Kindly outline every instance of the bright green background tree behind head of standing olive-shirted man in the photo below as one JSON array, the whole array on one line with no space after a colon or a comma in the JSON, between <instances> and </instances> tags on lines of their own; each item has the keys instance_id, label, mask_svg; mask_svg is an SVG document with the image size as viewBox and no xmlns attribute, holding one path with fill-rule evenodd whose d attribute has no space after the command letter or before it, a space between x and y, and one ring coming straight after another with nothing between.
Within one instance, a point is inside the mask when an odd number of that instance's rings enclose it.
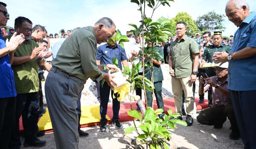
<instances>
[{"instance_id":1,"label":"bright green background tree behind head of standing olive-shirted man","mask_svg":"<svg viewBox=\"0 0 256 149\"><path fill-rule=\"evenodd\" d=\"M192 17L186 12L179 12L176 17L171 20L175 26L177 22L184 21L186 23L186 28L188 29L186 32L187 35L195 35L198 32L198 27L195 25Z\"/></svg>"}]
</instances>

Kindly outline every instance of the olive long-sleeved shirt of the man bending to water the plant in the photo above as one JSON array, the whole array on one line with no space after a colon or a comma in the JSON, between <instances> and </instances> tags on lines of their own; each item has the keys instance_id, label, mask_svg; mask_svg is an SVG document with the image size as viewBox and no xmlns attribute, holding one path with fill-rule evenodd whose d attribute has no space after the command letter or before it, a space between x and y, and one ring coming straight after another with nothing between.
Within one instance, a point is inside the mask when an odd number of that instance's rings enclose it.
<instances>
[{"instance_id":1,"label":"olive long-sleeved shirt of the man bending to water the plant","mask_svg":"<svg viewBox=\"0 0 256 149\"><path fill-rule=\"evenodd\" d=\"M61 45L52 66L82 80L99 82L103 73L96 64L97 41L92 26L76 30Z\"/></svg>"}]
</instances>

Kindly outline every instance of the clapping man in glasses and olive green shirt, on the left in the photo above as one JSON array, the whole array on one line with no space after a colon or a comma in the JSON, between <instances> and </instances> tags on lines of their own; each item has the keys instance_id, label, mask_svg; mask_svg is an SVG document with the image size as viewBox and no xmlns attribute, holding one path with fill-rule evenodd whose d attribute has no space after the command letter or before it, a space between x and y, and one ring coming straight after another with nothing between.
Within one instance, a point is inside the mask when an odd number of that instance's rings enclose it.
<instances>
[{"instance_id":1,"label":"clapping man in glasses and olive green shirt, on the left","mask_svg":"<svg viewBox=\"0 0 256 149\"><path fill-rule=\"evenodd\" d=\"M28 18L17 17L15 19L15 31L17 34L24 34L25 41L14 53L12 63L17 100L15 127L12 130L9 149L19 149L21 146L19 127L21 115L25 136L24 146L41 147L46 144L46 141L36 138L39 118L38 65L44 65L46 53L42 47L38 47L35 41L29 39L33 29L32 22ZM7 36L7 38L10 37Z\"/></svg>"}]
</instances>

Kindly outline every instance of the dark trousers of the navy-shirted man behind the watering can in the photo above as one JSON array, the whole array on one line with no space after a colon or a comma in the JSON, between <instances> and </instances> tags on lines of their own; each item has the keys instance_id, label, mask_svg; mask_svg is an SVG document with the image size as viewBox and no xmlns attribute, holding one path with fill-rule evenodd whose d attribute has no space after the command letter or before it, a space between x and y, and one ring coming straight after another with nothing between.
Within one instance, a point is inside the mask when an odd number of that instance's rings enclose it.
<instances>
[{"instance_id":1,"label":"dark trousers of the navy-shirted man behind the watering can","mask_svg":"<svg viewBox=\"0 0 256 149\"><path fill-rule=\"evenodd\" d=\"M102 81L99 82L100 84L102 83ZM108 100L109 100L109 92L111 90L111 87L108 86L107 82L104 82L103 84L103 88L100 86L100 116L101 122L106 123L108 121L108 119L106 118L107 115L107 110L108 110ZM112 117L112 121L116 121L119 120L119 109L120 109L120 102L117 100L116 98L117 93L115 94L115 98L113 98L113 91L111 90L111 97L113 100L113 117Z\"/></svg>"}]
</instances>

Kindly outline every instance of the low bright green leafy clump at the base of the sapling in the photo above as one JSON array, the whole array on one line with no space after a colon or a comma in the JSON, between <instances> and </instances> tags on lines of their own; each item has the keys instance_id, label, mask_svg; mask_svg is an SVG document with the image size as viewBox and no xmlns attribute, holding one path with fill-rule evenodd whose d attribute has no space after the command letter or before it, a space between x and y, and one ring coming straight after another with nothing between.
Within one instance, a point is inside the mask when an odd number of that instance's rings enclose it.
<instances>
[{"instance_id":1,"label":"low bright green leafy clump at the base of the sapling","mask_svg":"<svg viewBox=\"0 0 256 149\"><path fill-rule=\"evenodd\" d=\"M164 149L169 149L169 146L166 144L167 140L171 140L171 132L168 130L168 127L171 129L175 129L176 124L180 124L186 126L186 122L179 120L179 119L170 119L171 117L176 117L177 114L172 114L172 110L168 110L168 115L165 115L165 120L157 118L158 114L161 114L163 109L157 109L154 111L151 107L145 112L144 118L142 117L141 113L137 112L136 110L128 111L128 115L131 117L135 117L140 120L140 126L137 127L128 127L124 129L125 135L133 132L136 129L141 129L143 134L137 136L137 145L148 143L150 144L151 149L160 149L160 144L163 145ZM150 141L145 141L145 139L149 138ZM141 142L143 140L143 142Z\"/></svg>"}]
</instances>

